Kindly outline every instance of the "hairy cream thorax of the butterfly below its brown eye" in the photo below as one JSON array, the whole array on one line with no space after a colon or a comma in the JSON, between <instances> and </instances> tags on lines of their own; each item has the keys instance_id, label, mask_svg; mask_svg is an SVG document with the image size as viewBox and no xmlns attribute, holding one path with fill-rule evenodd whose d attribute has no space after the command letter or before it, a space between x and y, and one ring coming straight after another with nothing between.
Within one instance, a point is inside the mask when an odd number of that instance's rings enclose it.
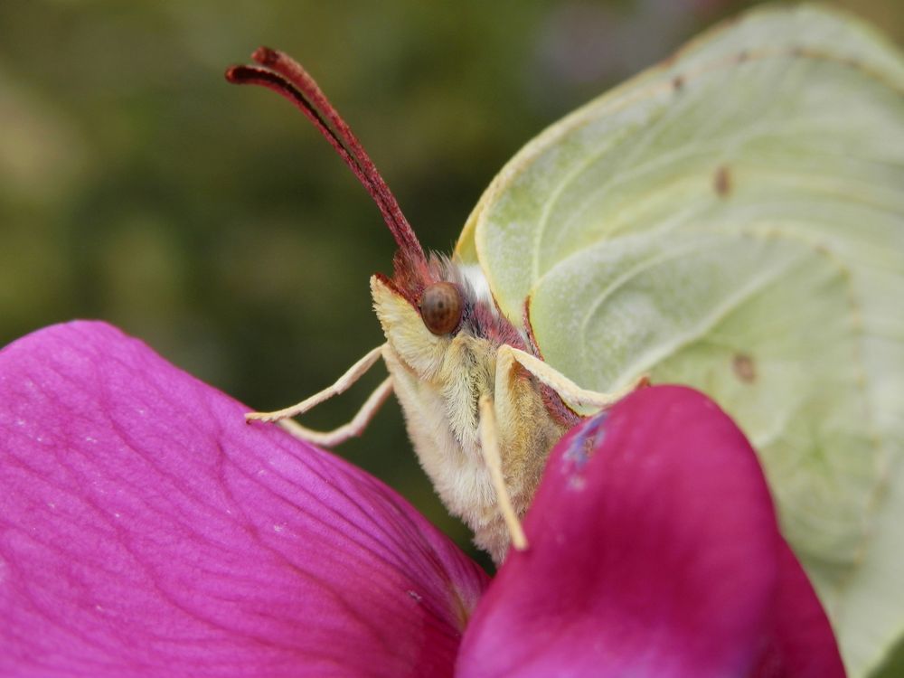
<instances>
[{"instance_id":1,"label":"hairy cream thorax of the butterfly below its brown eye","mask_svg":"<svg viewBox=\"0 0 904 678\"><path fill-rule=\"evenodd\" d=\"M459 335L432 379L424 379L388 345L384 358L405 414L420 465L450 513L475 533L476 545L500 562L509 535L480 449L477 403L494 397L505 485L519 514L526 512L549 450L564 432L546 410L539 384L516 368L495 398L497 347Z\"/></svg>"}]
</instances>

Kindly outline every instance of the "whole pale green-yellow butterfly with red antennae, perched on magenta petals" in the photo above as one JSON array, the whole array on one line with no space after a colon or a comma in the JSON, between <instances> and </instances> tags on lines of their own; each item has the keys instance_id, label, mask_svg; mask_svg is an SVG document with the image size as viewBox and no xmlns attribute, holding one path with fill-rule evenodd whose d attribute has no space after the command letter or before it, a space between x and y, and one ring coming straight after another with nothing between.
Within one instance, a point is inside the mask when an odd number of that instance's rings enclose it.
<instances>
[{"instance_id":1,"label":"whole pale green-yellow butterfly with red antennae, perched on magenta petals","mask_svg":"<svg viewBox=\"0 0 904 678\"><path fill-rule=\"evenodd\" d=\"M761 8L571 113L504 166L454 253L425 253L363 147L285 54L232 82L300 108L396 240L386 343L278 412L332 446L395 393L421 466L497 562L552 445L645 381L707 392L758 449L849 666L904 626L904 59L814 6ZM344 427L287 421L373 364ZM897 462L897 463L896 463ZM739 535L742 538L742 535Z\"/></svg>"}]
</instances>

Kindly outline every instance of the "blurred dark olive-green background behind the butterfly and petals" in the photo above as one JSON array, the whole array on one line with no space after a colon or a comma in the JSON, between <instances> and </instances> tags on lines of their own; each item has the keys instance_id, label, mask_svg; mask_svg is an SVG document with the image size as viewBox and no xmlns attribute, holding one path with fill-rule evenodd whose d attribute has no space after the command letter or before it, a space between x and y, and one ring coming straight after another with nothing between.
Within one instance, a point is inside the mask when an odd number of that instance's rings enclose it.
<instances>
[{"instance_id":1,"label":"blurred dark olive-green background behind the butterfly and petals","mask_svg":"<svg viewBox=\"0 0 904 678\"><path fill-rule=\"evenodd\" d=\"M367 281L392 240L306 120L226 66L259 44L304 63L445 251L543 127L749 5L0 3L0 345L102 318L254 408L300 400L381 343ZM904 42L899 0L841 5ZM344 422L384 374L306 424ZM337 452L468 547L394 400Z\"/></svg>"}]
</instances>

